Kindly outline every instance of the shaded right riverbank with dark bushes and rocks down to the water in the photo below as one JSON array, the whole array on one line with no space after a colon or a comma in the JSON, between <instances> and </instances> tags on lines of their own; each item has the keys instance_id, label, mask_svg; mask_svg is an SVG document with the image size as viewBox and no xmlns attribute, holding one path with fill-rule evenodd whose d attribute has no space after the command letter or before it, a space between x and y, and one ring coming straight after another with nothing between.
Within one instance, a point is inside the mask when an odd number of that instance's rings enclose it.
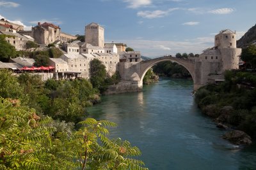
<instances>
[{"instance_id":1,"label":"shaded right riverbank with dark bushes and rocks down to the water","mask_svg":"<svg viewBox=\"0 0 256 170\"><path fill-rule=\"evenodd\" d=\"M195 101L218 128L228 130L223 138L235 145L250 145L256 138L256 90L241 86L239 73L232 74L223 83L198 89Z\"/></svg>"}]
</instances>

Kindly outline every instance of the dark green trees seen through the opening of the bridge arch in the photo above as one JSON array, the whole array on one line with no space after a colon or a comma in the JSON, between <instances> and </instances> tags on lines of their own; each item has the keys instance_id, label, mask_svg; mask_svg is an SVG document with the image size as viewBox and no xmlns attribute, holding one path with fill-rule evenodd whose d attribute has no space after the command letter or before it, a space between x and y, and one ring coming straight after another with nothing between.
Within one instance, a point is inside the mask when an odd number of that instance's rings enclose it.
<instances>
[{"instance_id":1,"label":"dark green trees seen through the opening of the bridge arch","mask_svg":"<svg viewBox=\"0 0 256 170\"><path fill-rule=\"evenodd\" d=\"M177 64L176 62L163 61L157 63L153 66L154 73L159 76L170 76L170 77L180 77L187 78L190 77L188 70Z\"/></svg>"}]
</instances>

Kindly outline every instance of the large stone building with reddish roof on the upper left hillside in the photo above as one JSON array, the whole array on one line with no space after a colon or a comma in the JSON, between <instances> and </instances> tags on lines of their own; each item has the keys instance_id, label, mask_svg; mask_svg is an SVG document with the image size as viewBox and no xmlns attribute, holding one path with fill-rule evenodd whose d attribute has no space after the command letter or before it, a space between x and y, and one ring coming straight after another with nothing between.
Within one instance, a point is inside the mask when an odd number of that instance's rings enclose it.
<instances>
[{"instance_id":1,"label":"large stone building with reddish roof on the upper left hillside","mask_svg":"<svg viewBox=\"0 0 256 170\"><path fill-rule=\"evenodd\" d=\"M32 27L33 38L41 46L60 41L60 27L51 23L44 22Z\"/></svg>"}]
</instances>

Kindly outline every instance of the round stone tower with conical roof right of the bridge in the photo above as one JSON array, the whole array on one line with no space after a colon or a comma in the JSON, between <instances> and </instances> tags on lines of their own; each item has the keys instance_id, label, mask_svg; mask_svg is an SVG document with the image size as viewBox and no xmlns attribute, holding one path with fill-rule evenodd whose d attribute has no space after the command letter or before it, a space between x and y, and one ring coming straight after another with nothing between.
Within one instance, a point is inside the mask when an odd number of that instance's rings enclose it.
<instances>
[{"instance_id":1,"label":"round stone tower with conical roof right of the bridge","mask_svg":"<svg viewBox=\"0 0 256 170\"><path fill-rule=\"evenodd\" d=\"M220 49L222 70L238 69L241 48L236 48L236 32L226 29L215 36L215 46Z\"/></svg>"}]
</instances>

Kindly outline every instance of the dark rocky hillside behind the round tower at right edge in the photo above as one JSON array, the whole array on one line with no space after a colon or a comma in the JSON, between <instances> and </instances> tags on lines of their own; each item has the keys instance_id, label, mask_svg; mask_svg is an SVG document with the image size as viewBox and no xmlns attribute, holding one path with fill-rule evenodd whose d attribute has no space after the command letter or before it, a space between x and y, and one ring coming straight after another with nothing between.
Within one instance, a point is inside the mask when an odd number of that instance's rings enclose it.
<instances>
[{"instance_id":1,"label":"dark rocky hillside behind the round tower at right edge","mask_svg":"<svg viewBox=\"0 0 256 170\"><path fill-rule=\"evenodd\" d=\"M245 48L252 43L256 43L256 24L250 28L242 38L237 40L237 48Z\"/></svg>"}]
</instances>

